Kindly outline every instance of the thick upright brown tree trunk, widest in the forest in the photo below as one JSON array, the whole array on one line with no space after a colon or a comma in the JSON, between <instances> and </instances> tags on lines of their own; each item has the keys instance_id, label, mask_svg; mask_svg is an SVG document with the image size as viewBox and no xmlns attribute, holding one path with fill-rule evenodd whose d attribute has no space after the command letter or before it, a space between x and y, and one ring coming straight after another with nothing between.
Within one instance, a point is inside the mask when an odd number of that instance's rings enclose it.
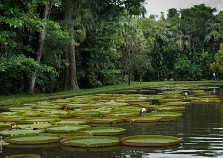
<instances>
[{"instance_id":1,"label":"thick upright brown tree trunk, widest in the forest","mask_svg":"<svg viewBox=\"0 0 223 158\"><path fill-rule=\"evenodd\" d=\"M75 45L74 45L74 25L71 22L73 20L72 9L68 8L64 13L64 20L68 22L66 29L70 35L70 42L65 50L65 60L69 62L69 66L66 67L64 72L64 89L75 90L79 89L76 75L76 58L75 58Z\"/></svg>"}]
</instances>

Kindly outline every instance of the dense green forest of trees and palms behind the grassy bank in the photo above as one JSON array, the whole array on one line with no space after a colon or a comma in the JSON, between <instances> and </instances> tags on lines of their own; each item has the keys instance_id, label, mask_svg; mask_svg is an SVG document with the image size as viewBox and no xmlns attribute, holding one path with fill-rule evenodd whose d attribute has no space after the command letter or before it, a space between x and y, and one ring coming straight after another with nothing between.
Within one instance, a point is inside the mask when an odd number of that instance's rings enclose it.
<instances>
[{"instance_id":1,"label":"dense green forest of trees and palms behind the grassy bank","mask_svg":"<svg viewBox=\"0 0 223 158\"><path fill-rule=\"evenodd\" d=\"M201 4L156 20L144 1L1 1L0 94L222 75L223 12Z\"/></svg>"}]
</instances>

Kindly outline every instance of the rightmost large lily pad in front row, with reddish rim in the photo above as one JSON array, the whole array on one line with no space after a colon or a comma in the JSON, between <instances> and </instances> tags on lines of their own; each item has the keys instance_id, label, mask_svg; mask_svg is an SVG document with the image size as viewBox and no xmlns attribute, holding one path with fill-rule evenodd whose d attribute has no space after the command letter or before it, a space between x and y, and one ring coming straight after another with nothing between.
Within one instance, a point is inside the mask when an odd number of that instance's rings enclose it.
<instances>
[{"instance_id":1,"label":"rightmost large lily pad in front row, with reddish rim","mask_svg":"<svg viewBox=\"0 0 223 158\"><path fill-rule=\"evenodd\" d=\"M171 146L180 144L180 139L162 135L135 135L123 138L122 144L129 146Z\"/></svg>"}]
</instances>

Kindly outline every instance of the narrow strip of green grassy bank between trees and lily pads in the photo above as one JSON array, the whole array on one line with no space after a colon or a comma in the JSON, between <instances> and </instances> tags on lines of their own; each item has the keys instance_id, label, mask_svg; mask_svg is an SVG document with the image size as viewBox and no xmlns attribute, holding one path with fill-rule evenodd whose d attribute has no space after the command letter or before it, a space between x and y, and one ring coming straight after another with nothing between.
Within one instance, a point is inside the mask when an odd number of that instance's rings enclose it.
<instances>
[{"instance_id":1,"label":"narrow strip of green grassy bank between trees and lily pads","mask_svg":"<svg viewBox=\"0 0 223 158\"><path fill-rule=\"evenodd\" d=\"M112 86L103 86L98 88L90 88L90 89L78 89L74 91L63 91L58 93L50 93L50 94L33 94L33 95L13 95L13 96L1 96L0 97L0 106L5 105L21 105L24 103L35 102L35 101L43 101L48 99L57 99L57 98L66 98L72 97L75 95L85 95L85 94L92 94L92 93L102 93L114 90L122 90L122 89L130 89L130 88L139 88L139 87L151 87L151 86L159 86L159 85L167 85L167 84L187 84L187 83L216 83L222 85L222 81L191 81L191 82L132 82L129 86L127 83L122 83L118 85Z\"/></svg>"}]
</instances>

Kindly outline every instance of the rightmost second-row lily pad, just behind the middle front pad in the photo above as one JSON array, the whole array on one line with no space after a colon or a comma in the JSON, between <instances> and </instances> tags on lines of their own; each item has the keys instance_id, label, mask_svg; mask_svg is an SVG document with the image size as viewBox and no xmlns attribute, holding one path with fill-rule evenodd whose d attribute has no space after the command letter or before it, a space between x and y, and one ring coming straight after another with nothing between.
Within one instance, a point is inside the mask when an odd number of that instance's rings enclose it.
<instances>
[{"instance_id":1,"label":"rightmost second-row lily pad, just behind the middle front pad","mask_svg":"<svg viewBox=\"0 0 223 158\"><path fill-rule=\"evenodd\" d=\"M118 127L91 127L87 129L80 129L78 132L90 133L95 136L119 135L124 134L124 128Z\"/></svg>"}]
</instances>

